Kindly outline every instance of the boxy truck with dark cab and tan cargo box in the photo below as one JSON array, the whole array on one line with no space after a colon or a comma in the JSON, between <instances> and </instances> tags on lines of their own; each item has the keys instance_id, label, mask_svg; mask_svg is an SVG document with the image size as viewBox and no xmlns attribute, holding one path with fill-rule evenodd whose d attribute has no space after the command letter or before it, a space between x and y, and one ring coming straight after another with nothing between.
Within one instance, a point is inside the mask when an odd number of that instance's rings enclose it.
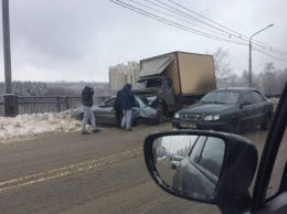
<instances>
[{"instance_id":1,"label":"boxy truck with dark cab and tan cargo box","mask_svg":"<svg viewBox=\"0 0 287 214\"><path fill-rule=\"evenodd\" d=\"M172 52L140 61L138 96L157 96L164 116L216 88L212 55Z\"/></svg>"}]
</instances>

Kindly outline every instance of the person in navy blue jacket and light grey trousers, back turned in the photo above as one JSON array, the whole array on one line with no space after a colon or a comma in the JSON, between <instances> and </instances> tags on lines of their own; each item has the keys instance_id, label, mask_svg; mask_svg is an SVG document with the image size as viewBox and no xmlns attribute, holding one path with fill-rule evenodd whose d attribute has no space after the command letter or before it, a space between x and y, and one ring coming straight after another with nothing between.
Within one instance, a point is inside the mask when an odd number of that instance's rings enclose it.
<instances>
[{"instance_id":1,"label":"person in navy blue jacket and light grey trousers, back turned","mask_svg":"<svg viewBox=\"0 0 287 214\"><path fill-rule=\"evenodd\" d=\"M123 121L121 121L121 129L131 131L130 128L130 120L131 120L131 111L132 111L132 105L135 103L135 95L131 92L131 85L126 84L120 93L120 99L121 99L121 108L123 108Z\"/></svg>"}]
</instances>

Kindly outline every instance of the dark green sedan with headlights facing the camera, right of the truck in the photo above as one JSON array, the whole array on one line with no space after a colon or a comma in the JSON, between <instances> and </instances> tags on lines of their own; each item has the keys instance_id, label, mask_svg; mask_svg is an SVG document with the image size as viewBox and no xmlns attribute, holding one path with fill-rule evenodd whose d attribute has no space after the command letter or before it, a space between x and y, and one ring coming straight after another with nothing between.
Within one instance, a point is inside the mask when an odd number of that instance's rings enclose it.
<instances>
[{"instance_id":1,"label":"dark green sedan with headlights facing the camera, right of the truck","mask_svg":"<svg viewBox=\"0 0 287 214\"><path fill-rule=\"evenodd\" d=\"M254 126L270 127L273 101L248 87L215 89L198 104L182 108L173 116L176 129L203 129L238 132Z\"/></svg>"}]
</instances>

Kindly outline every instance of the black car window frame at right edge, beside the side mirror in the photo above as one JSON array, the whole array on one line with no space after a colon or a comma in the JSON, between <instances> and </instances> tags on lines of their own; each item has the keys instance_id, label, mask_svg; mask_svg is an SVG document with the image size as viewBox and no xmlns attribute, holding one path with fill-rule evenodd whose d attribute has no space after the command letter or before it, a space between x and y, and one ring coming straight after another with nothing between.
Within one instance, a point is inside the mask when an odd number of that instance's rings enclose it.
<instances>
[{"instance_id":1,"label":"black car window frame at right edge, beside the side mirror","mask_svg":"<svg viewBox=\"0 0 287 214\"><path fill-rule=\"evenodd\" d=\"M269 199L266 199L267 189L269 185L269 180L273 172L273 167L277 158L278 149L280 147L285 130L287 118L287 83L285 84L281 97L279 99L277 109L274 115L274 119L266 138L266 142L263 149L263 154L261 158L259 167L256 174L255 186L253 190L251 211L255 212L259 210L267 202L276 199L286 190L287 181L286 173L287 168L283 173L283 180L280 182L279 191ZM283 188L284 186L284 188Z\"/></svg>"}]
</instances>

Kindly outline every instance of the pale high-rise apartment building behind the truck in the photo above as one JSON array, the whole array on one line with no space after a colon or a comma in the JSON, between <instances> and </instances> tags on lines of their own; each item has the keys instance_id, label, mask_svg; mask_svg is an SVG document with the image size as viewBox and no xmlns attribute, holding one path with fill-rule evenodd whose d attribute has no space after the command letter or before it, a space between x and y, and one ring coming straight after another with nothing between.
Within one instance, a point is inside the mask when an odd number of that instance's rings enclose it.
<instances>
[{"instance_id":1,"label":"pale high-rise apartment building behind the truck","mask_svg":"<svg viewBox=\"0 0 287 214\"><path fill-rule=\"evenodd\" d=\"M128 62L127 65L118 64L109 67L109 87L120 89L126 84L131 84L132 88L137 86L139 75L139 63Z\"/></svg>"}]
</instances>

